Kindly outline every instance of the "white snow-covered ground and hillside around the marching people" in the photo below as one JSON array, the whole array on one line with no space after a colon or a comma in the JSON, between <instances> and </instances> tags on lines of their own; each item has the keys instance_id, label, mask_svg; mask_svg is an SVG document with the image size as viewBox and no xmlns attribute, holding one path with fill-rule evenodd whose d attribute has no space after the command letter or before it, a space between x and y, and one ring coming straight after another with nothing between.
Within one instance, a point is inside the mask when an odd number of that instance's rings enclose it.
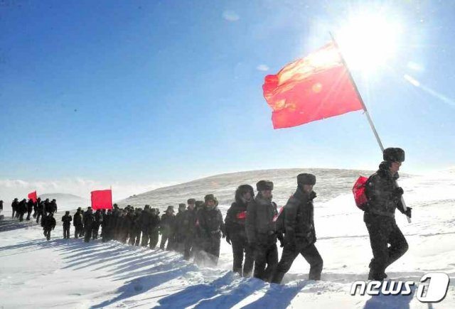
<instances>
[{"instance_id":1,"label":"white snow-covered ground and hillside around the marching people","mask_svg":"<svg viewBox=\"0 0 455 309\"><path fill-rule=\"evenodd\" d=\"M233 183L245 180L254 184L269 178L277 185L274 196L282 205L294 190L296 172L220 175L216 181L205 178L134 199L139 205L145 197L154 195L155 200L161 199L160 206L175 205L187 197L203 196L202 187L210 187L208 181L212 183L210 192L220 196L220 209L225 213L228 196L233 196ZM316 172L321 175L319 179L325 180L315 187L319 193L315 203L316 246L324 259L322 281L306 280L309 267L301 256L284 277L284 285L241 278L230 271L232 251L224 241L217 269L199 268L179 254L159 249L65 240L60 225L47 242L41 227L9 221L7 204L6 221L0 226L0 308L455 308L454 170L425 177L407 176L400 181L407 204L414 208L412 224L397 213L397 223L410 250L387 269L387 274L392 279L418 282L430 271L448 273L451 283L447 296L433 304L420 303L414 293L350 296L351 283L365 280L371 258L363 214L346 190L359 172ZM131 200L124 203L134 205ZM59 210L57 219L61 215Z\"/></svg>"}]
</instances>

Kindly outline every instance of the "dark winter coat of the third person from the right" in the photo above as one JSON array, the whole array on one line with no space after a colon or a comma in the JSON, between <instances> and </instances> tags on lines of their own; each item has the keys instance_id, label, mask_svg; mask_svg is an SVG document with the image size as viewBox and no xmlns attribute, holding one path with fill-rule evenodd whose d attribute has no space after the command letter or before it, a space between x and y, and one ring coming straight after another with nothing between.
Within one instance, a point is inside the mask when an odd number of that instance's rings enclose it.
<instances>
[{"instance_id":1,"label":"dark winter coat of the third person from the right","mask_svg":"<svg viewBox=\"0 0 455 309\"><path fill-rule=\"evenodd\" d=\"M250 244L277 242L276 224L273 220L277 214L277 204L257 193L247 206L245 227Z\"/></svg>"}]
</instances>

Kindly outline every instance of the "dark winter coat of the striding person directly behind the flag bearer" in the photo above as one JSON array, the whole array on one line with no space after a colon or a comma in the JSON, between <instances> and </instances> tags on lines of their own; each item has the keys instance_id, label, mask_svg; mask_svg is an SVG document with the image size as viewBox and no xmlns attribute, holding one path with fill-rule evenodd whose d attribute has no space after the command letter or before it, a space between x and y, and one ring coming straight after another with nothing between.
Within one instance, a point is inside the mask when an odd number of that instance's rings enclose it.
<instances>
[{"instance_id":1,"label":"dark winter coat of the striding person directly behind the flag bearer","mask_svg":"<svg viewBox=\"0 0 455 309\"><path fill-rule=\"evenodd\" d=\"M287 244L309 246L316 242L314 205L316 193L306 193L297 188L284 206L284 240Z\"/></svg>"}]
</instances>

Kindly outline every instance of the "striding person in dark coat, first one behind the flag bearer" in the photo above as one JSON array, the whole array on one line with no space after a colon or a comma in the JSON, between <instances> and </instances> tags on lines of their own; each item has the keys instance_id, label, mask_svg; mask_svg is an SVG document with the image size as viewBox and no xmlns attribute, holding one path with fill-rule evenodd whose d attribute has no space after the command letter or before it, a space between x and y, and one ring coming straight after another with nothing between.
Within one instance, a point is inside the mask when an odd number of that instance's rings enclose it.
<instances>
[{"instance_id":1,"label":"striding person in dark coat, first one behind the flag bearer","mask_svg":"<svg viewBox=\"0 0 455 309\"><path fill-rule=\"evenodd\" d=\"M272 283L282 282L284 274L291 269L294 259L299 254L310 264L309 280L321 280L323 260L314 245L315 184L315 175L307 173L297 175L296 192L289 198L281 214L284 215L284 248Z\"/></svg>"}]
</instances>

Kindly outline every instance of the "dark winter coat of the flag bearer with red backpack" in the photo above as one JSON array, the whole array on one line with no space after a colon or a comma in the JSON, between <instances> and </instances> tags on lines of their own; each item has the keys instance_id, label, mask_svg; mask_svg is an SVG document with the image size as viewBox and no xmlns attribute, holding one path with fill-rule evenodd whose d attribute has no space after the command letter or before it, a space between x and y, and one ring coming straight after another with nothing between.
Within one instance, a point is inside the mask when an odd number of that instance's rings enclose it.
<instances>
[{"instance_id":1,"label":"dark winter coat of the flag bearer with red backpack","mask_svg":"<svg viewBox=\"0 0 455 309\"><path fill-rule=\"evenodd\" d=\"M399 177L398 173L390 173L389 163L380 164L379 170L368 178L365 185L365 195L368 197L365 212L387 217L395 217L396 208L404 212L401 195L396 193L396 180Z\"/></svg>"}]
</instances>

